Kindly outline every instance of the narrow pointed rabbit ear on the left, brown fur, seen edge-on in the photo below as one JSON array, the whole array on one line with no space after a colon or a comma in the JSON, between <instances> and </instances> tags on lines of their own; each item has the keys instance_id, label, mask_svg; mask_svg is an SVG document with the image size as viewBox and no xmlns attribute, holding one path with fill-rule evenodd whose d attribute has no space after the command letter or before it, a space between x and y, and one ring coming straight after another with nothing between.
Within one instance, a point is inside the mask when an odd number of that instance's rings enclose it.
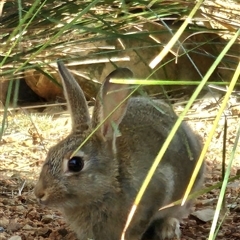
<instances>
[{"instance_id":1,"label":"narrow pointed rabbit ear on the left, brown fur, seen edge-on","mask_svg":"<svg viewBox=\"0 0 240 240\"><path fill-rule=\"evenodd\" d=\"M82 132L90 126L90 116L85 96L77 81L65 65L61 61L58 61L57 66L62 78L64 96L71 113L72 131Z\"/></svg>"}]
</instances>

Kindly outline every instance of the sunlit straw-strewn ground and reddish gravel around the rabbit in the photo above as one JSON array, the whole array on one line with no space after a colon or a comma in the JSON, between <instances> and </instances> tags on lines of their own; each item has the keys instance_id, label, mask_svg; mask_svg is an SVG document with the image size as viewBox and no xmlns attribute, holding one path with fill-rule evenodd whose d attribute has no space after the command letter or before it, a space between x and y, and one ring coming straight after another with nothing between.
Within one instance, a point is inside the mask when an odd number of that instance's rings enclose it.
<instances>
[{"instance_id":1,"label":"sunlit straw-strewn ground and reddish gravel around the rabbit","mask_svg":"<svg viewBox=\"0 0 240 240\"><path fill-rule=\"evenodd\" d=\"M229 161L239 128L240 103L234 98L226 111L227 139L226 157ZM188 115L189 123L205 141L212 129L217 105L208 102L207 107L194 106L196 112ZM181 107L176 107L180 112ZM29 113L31 112L31 113ZM2 116L1 116L2 117ZM66 112L58 115L33 113L19 110L9 112L7 128L0 145L0 239L76 239L65 225L57 211L40 206L33 188L38 178L46 152L51 145L60 141L70 130L70 118ZM224 119L218 125L206 155L207 173L205 186L209 187L221 180ZM239 174L240 147L238 145L231 176ZM217 239L240 239L240 181L228 184L223 220ZM203 188L204 188L203 187ZM181 240L208 239L211 222L219 198L219 189L205 193L196 200L189 218L181 224Z\"/></svg>"}]
</instances>

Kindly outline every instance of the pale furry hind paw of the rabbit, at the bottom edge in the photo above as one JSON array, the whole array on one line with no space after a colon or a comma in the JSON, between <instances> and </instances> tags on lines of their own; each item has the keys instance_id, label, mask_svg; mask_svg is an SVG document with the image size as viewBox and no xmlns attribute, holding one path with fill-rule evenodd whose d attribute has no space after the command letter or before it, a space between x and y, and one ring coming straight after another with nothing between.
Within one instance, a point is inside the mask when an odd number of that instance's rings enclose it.
<instances>
[{"instance_id":1,"label":"pale furry hind paw of the rabbit, at the bottom edge","mask_svg":"<svg viewBox=\"0 0 240 240\"><path fill-rule=\"evenodd\" d=\"M161 226L160 239L180 239L180 224L176 218L167 218Z\"/></svg>"}]
</instances>

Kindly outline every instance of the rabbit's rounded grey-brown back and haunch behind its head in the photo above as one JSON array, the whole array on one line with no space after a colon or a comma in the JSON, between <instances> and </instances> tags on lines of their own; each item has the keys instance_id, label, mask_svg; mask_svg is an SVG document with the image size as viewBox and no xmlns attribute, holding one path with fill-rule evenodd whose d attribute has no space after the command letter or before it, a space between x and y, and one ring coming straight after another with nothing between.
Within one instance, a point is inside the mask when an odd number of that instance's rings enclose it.
<instances>
[{"instance_id":1,"label":"rabbit's rounded grey-brown back and haunch behind its head","mask_svg":"<svg viewBox=\"0 0 240 240\"><path fill-rule=\"evenodd\" d=\"M143 97L129 100L126 114L119 126L121 136L117 138L117 159L120 166L121 188L125 190L124 195L129 196L127 202L132 203L138 193L176 120L176 114L164 101ZM171 224L172 222L178 224L176 223L177 220L181 220L182 217L188 215L191 201L182 207L175 206L161 211L158 210L183 197L201 148L200 138L187 123L183 122L143 195L139 211L133 219L132 230L129 230L131 234L139 229L144 219L146 226L151 226L153 222L159 224L159 221L163 222L164 220L170 221ZM121 168L121 166L123 167ZM203 173L204 165L200 169L193 190L201 186ZM150 222L148 222L149 219L151 219ZM150 226L146 232L149 231ZM179 228L179 226L176 226L176 229L177 227ZM161 229L161 226L157 226L157 228ZM180 235L180 231L175 229L173 231L178 231L178 233L171 232L168 235L167 231L160 231L158 233L159 238L156 239L165 239L172 234ZM145 235L142 239L145 239ZM155 235L152 233L152 236ZM147 239L152 238L148 236Z\"/></svg>"}]
</instances>

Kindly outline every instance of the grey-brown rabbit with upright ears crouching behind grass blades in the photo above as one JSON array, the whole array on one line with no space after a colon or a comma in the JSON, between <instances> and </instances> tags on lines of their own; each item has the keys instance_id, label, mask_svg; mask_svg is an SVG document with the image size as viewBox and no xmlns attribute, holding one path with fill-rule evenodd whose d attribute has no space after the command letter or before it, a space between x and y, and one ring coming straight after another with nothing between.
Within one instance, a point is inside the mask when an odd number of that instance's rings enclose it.
<instances>
[{"instance_id":1,"label":"grey-brown rabbit with upright ears crouching behind grass blades","mask_svg":"<svg viewBox=\"0 0 240 240\"><path fill-rule=\"evenodd\" d=\"M135 96L124 101L130 85L111 79L129 79L133 73L118 68L103 82L90 119L80 86L61 61L57 65L72 130L50 148L35 196L41 204L59 209L78 239L120 240L134 199L177 115L162 100ZM180 237L179 224L192 201L159 209L183 197L201 148L199 137L183 122L137 207L126 240ZM194 191L203 175L204 164Z\"/></svg>"}]
</instances>

